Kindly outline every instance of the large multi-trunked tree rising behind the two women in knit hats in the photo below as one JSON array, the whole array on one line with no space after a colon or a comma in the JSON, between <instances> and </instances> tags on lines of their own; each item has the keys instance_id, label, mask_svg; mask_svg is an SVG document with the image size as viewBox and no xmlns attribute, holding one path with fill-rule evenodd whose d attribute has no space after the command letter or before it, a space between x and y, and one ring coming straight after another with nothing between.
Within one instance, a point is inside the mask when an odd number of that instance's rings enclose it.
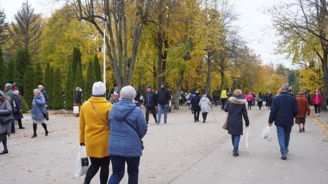
<instances>
[{"instance_id":1,"label":"large multi-trunked tree rising behind the two women in knit hats","mask_svg":"<svg viewBox=\"0 0 328 184\"><path fill-rule=\"evenodd\" d=\"M105 43L119 91L130 84L139 41L148 21L152 0L69 0L79 20L91 23L103 37L102 23L107 21ZM100 20L100 21L99 21ZM129 35L131 34L131 35Z\"/></svg>"}]
</instances>

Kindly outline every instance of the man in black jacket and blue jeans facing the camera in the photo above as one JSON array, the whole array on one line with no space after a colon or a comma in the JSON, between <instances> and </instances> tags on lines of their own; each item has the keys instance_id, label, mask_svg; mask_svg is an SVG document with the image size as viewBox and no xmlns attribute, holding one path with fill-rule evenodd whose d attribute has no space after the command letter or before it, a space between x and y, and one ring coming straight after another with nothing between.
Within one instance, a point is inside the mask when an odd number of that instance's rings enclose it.
<instances>
[{"instance_id":1,"label":"man in black jacket and blue jeans facing the camera","mask_svg":"<svg viewBox=\"0 0 328 184\"><path fill-rule=\"evenodd\" d=\"M156 100L158 102L158 122L157 125L161 123L162 110L164 110L164 124L167 120L167 104L171 99L171 92L165 88L165 83L161 83L161 89L156 94Z\"/></svg>"}]
</instances>

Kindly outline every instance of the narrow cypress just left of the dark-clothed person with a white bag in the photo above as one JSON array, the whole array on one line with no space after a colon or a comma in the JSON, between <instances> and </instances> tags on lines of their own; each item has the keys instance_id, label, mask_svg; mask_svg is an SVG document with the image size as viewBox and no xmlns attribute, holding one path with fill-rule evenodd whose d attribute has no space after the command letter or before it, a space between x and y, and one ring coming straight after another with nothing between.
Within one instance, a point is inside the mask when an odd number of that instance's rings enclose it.
<instances>
[{"instance_id":1,"label":"narrow cypress just left of the dark-clothed person with a white bag","mask_svg":"<svg viewBox=\"0 0 328 184\"><path fill-rule=\"evenodd\" d=\"M65 83L66 83L65 84L65 107L67 109L73 109L74 83L73 83L72 65L69 65L69 67L68 67Z\"/></svg>"}]
</instances>

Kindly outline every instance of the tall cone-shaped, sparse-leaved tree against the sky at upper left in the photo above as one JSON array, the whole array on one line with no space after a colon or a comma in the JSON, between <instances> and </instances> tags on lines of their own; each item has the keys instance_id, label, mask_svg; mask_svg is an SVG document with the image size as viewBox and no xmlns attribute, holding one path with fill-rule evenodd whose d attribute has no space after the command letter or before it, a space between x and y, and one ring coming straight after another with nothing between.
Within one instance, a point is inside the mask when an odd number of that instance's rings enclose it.
<instances>
[{"instance_id":1,"label":"tall cone-shaped, sparse-leaved tree against the sky at upper left","mask_svg":"<svg viewBox=\"0 0 328 184\"><path fill-rule=\"evenodd\" d=\"M15 15L15 23L12 24L12 29L9 33L14 43L13 49L23 47L27 49L32 56L40 52L39 44L41 37L41 17L34 12L29 1L26 0L22 3L21 9Z\"/></svg>"}]
</instances>

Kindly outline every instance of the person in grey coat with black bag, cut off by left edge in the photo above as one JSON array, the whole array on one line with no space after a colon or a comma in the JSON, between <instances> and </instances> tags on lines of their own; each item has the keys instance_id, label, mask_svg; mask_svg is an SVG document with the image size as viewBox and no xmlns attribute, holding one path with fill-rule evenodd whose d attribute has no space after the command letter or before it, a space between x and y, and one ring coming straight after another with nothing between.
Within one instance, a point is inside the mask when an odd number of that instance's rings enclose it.
<instances>
[{"instance_id":1,"label":"person in grey coat with black bag, cut off by left edge","mask_svg":"<svg viewBox=\"0 0 328 184\"><path fill-rule=\"evenodd\" d=\"M7 115L12 113L9 100L9 97L4 95L4 92L0 91L0 115ZM3 144L3 151L0 153L0 155L8 153L7 136L9 138L10 134L11 123L0 124L0 142Z\"/></svg>"}]
</instances>

